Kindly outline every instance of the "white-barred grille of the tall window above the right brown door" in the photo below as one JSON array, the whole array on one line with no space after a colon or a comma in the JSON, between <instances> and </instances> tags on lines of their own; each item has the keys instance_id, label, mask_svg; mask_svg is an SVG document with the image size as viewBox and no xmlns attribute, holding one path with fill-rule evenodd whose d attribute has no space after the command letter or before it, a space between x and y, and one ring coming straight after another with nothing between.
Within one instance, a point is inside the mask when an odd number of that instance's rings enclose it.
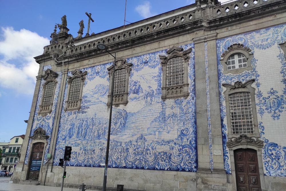
<instances>
[{"instance_id":1,"label":"white-barred grille of the tall window above the right brown door","mask_svg":"<svg viewBox=\"0 0 286 191\"><path fill-rule=\"evenodd\" d=\"M253 117L249 92L229 95L231 129L233 134L253 134Z\"/></svg>"}]
</instances>

